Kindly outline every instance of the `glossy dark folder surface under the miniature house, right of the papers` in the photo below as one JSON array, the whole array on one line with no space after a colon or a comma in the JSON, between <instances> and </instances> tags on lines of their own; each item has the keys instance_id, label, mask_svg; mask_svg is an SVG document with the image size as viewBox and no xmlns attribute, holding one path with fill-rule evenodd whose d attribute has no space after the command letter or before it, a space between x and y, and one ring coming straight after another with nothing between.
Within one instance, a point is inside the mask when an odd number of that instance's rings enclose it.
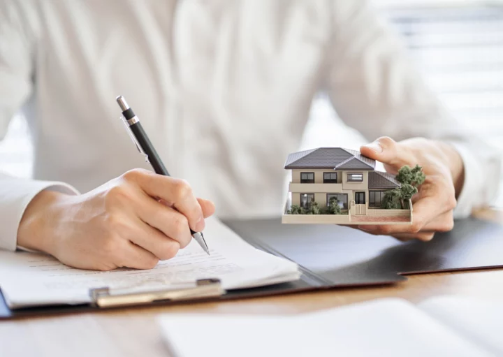
<instances>
[{"instance_id":1,"label":"glossy dark folder surface under the miniature house, right of the papers","mask_svg":"<svg viewBox=\"0 0 503 357\"><path fill-rule=\"evenodd\" d=\"M226 222L265 251L296 261L333 286L400 281L424 272L503 267L503 226L463 219L430 242L400 242L335 225L281 224L279 219Z\"/></svg>"}]
</instances>

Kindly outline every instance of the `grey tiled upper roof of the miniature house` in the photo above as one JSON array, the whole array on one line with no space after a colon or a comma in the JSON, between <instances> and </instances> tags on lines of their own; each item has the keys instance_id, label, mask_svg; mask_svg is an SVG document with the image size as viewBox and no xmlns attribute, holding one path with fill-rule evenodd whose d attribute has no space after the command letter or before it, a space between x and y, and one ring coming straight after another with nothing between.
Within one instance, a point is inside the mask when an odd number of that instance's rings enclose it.
<instances>
[{"instance_id":1,"label":"grey tiled upper roof of the miniature house","mask_svg":"<svg viewBox=\"0 0 503 357\"><path fill-rule=\"evenodd\" d=\"M320 147L289 154L284 168L330 168L333 170L374 170L375 160L355 150Z\"/></svg>"}]
</instances>

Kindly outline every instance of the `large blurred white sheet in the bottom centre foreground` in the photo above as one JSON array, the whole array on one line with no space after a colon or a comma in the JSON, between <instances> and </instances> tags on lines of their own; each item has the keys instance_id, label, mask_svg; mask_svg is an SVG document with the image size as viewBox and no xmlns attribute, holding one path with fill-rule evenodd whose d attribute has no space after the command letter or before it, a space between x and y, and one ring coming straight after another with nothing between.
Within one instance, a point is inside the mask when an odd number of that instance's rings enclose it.
<instances>
[{"instance_id":1,"label":"large blurred white sheet in the bottom centre foreground","mask_svg":"<svg viewBox=\"0 0 503 357\"><path fill-rule=\"evenodd\" d=\"M173 357L493 356L399 299L290 316L163 314L159 322Z\"/></svg>"}]
</instances>

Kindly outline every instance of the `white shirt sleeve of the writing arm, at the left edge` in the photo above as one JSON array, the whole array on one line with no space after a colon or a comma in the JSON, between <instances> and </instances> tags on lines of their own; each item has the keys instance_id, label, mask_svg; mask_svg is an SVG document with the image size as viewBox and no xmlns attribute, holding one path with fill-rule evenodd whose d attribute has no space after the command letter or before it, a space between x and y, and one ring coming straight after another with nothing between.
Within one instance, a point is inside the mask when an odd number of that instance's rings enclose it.
<instances>
[{"instance_id":1,"label":"white shirt sleeve of the writing arm, at the left edge","mask_svg":"<svg viewBox=\"0 0 503 357\"><path fill-rule=\"evenodd\" d=\"M33 92L33 11L31 0L0 0L0 140ZM0 249L16 249L24 210L44 189L77 194L61 182L22 180L0 173Z\"/></svg>"}]
</instances>

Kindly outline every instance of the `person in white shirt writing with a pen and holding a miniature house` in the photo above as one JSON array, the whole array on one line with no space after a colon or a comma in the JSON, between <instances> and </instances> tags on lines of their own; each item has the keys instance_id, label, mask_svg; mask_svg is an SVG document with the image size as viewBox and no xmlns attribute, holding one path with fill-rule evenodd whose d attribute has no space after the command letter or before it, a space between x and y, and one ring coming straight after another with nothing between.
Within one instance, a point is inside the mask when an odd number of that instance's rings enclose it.
<instances>
[{"instance_id":1,"label":"person in white shirt writing with a pen and holding a miniature house","mask_svg":"<svg viewBox=\"0 0 503 357\"><path fill-rule=\"evenodd\" d=\"M215 205L279 214L320 91L372 140L363 154L428 177L413 224L370 233L430 240L494 196L500 154L446 113L367 1L0 0L0 24L1 134L22 110L34 142L34 180L1 176L2 249L152 268ZM137 155L119 94L174 177Z\"/></svg>"}]
</instances>

